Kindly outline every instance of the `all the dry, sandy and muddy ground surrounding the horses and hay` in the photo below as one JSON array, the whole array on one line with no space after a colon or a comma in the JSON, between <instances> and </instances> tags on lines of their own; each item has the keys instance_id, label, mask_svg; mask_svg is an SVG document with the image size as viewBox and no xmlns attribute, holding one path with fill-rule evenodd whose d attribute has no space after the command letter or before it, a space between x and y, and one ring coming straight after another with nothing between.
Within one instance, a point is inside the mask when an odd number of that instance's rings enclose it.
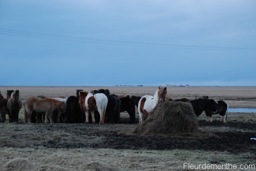
<instances>
[{"instance_id":1,"label":"all the dry, sandy and muddy ground surrounding the horses and hay","mask_svg":"<svg viewBox=\"0 0 256 171\"><path fill-rule=\"evenodd\" d=\"M0 87L0 91L5 96L7 89L18 89L23 101L30 96L70 96L75 95L76 89L99 88L140 96L153 95L157 90L157 87ZM208 95L228 102L232 108L256 108L256 87L168 87L167 91L167 96L173 99L192 100ZM22 108L18 123L0 123L0 170L182 171L184 163L256 165L256 141L251 140L256 137L255 113L229 113L227 124L220 123L219 115L214 115L213 123L206 123L202 114L198 117L199 128L210 135L206 137L132 135L137 124L128 124L126 112L121 114L121 124L103 125L25 124L23 115Z\"/></svg>"}]
</instances>

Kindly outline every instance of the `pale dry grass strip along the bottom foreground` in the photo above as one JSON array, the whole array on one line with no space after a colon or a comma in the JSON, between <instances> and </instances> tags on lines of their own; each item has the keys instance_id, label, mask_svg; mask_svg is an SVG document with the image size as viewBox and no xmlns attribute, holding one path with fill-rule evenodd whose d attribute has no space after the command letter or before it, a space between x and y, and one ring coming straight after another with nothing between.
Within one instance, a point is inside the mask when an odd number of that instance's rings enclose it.
<instances>
[{"instance_id":1,"label":"pale dry grass strip along the bottom foreground","mask_svg":"<svg viewBox=\"0 0 256 171\"><path fill-rule=\"evenodd\" d=\"M2 171L182 171L190 164L254 164L255 155L227 152L2 148ZM202 171L202 170L201 170Z\"/></svg>"}]
</instances>

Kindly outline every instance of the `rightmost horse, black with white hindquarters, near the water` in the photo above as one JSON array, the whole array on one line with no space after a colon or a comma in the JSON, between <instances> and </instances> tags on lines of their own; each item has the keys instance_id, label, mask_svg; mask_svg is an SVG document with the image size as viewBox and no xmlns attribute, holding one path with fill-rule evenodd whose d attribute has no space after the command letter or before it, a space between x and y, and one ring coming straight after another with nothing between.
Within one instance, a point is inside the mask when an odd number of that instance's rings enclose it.
<instances>
[{"instance_id":1,"label":"rightmost horse, black with white hindquarters, near the water","mask_svg":"<svg viewBox=\"0 0 256 171\"><path fill-rule=\"evenodd\" d=\"M228 103L224 102L223 100L219 100L216 102L217 111L213 112L210 109L205 111L207 116L207 122L213 122L212 116L213 114L220 114L222 116L221 122L227 123L228 122L228 112L229 112L229 105Z\"/></svg>"}]
</instances>

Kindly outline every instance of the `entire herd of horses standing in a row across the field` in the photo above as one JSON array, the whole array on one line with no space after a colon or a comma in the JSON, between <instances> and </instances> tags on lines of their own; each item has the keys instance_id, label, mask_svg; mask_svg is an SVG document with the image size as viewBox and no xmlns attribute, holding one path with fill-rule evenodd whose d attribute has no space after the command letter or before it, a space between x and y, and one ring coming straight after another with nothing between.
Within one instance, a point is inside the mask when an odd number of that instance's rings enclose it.
<instances>
[{"instance_id":1,"label":"entire herd of horses standing in a row across the field","mask_svg":"<svg viewBox=\"0 0 256 171\"><path fill-rule=\"evenodd\" d=\"M119 123L120 112L127 111L130 124L135 123L135 106L139 112L139 124L147 119L158 103L173 101L167 98L167 88L158 87L154 96L131 96L110 94L108 89L91 92L76 90L76 96L69 97L29 97L23 101L25 123ZM213 114L222 116L221 122L227 123L229 105L220 100L215 101L203 96L199 99L176 99L190 103L197 116L203 111L207 122L212 122ZM0 122L18 122L18 113L22 107L19 90L7 90L6 99L0 93Z\"/></svg>"}]
</instances>

